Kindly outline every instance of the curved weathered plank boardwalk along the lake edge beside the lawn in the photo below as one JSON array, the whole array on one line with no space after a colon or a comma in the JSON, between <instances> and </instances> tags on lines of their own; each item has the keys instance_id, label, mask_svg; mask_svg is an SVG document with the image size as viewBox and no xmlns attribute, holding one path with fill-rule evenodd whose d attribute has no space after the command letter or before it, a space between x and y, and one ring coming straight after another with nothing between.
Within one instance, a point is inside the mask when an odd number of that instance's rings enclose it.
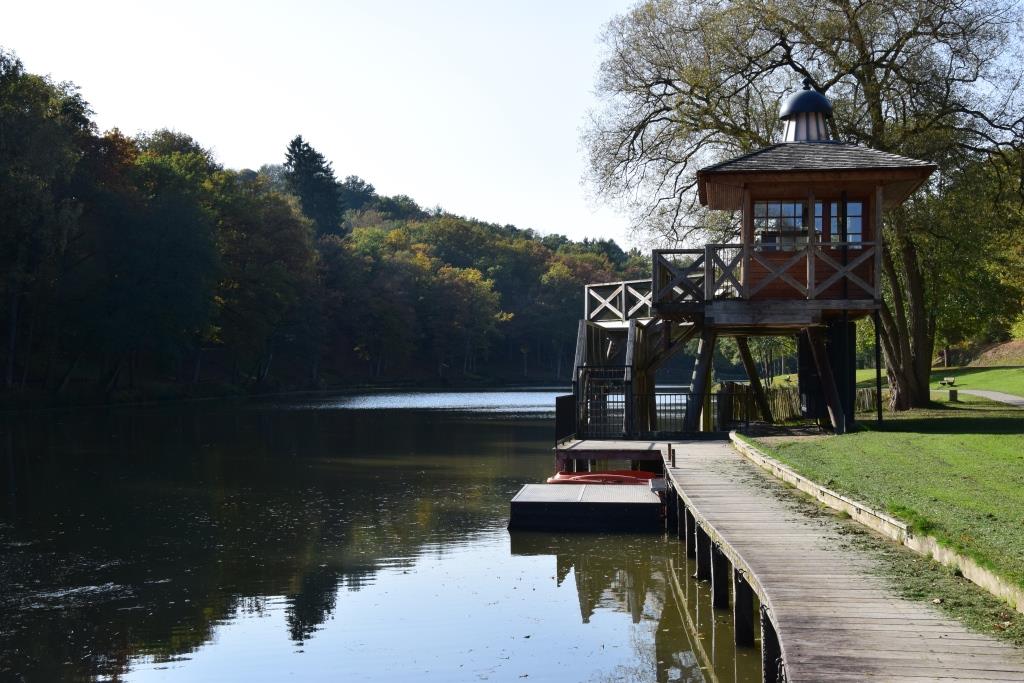
<instances>
[{"instance_id":1,"label":"curved weathered plank boardwalk along the lake edge beside the lawn","mask_svg":"<svg viewBox=\"0 0 1024 683\"><path fill-rule=\"evenodd\" d=\"M698 572L727 558L766 608L791 683L1024 681L1024 652L897 596L873 572L877 560L851 547L841 522L801 512L728 442L674 442L673 450L667 471L679 518L689 520L681 536L695 547ZM728 575L720 567L705 572Z\"/></svg>"}]
</instances>

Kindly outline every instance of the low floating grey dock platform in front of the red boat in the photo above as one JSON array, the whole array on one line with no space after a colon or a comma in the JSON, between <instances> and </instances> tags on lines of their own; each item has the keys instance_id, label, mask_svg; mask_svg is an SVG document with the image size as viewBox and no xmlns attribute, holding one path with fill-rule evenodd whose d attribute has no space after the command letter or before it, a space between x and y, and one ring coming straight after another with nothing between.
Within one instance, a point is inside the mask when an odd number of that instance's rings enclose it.
<instances>
[{"instance_id":1,"label":"low floating grey dock platform in front of the red boat","mask_svg":"<svg viewBox=\"0 0 1024 683\"><path fill-rule=\"evenodd\" d=\"M660 532L662 507L646 485L528 483L512 499L509 528Z\"/></svg>"}]
</instances>

